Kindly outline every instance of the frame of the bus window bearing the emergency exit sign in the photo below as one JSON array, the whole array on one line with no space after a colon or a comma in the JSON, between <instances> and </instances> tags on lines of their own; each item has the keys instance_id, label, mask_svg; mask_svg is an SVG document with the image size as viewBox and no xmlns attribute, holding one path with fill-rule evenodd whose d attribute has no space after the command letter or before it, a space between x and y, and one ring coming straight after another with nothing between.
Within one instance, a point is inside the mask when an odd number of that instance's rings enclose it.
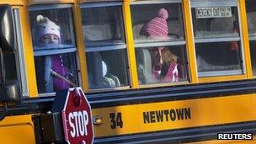
<instances>
[{"instance_id":1,"label":"frame of the bus window bearing the emergency exit sign","mask_svg":"<svg viewBox=\"0 0 256 144\"><path fill-rule=\"evenodd\" d=\"M223 77L223 79L244 79L246 78L246 73L247 73L247 69L246 69L246 63L245 63L245 51L244 51L244 45L243 45L243 31L242 31L242 19L241 19L241 10L240 10L240 6L238 3L239 0L220 0L220 1L207 1L207 3L200 3L202 2L202 0L191 0L190 2L190 11L191 11L191 18L192 18L192 8L204 8L204 7L233 7L233 8L237 8L237 24L239 31L238 31L238 36L237 37L221 37L221 38L196 38L195 35L193 35L193 39L195 41L195 44L206 44L206 43L219 43L219 42L232 42L232 41L237 41L238 43L240 43L240 50L239 50L239 57L240 57L240 61L243 61L241 64L241 69L237 69L237 70L225 70L224 72L222 71L207 71L207 72L198 72L197 71L197 75L198 75L198 79L199 82L209 82L209 81L216 81L216 78L214 77ZM193 19L191 19L193 20ZM192 24L192 29L194 31L194 25ZM196 49L196 46L195 46ZM197 63L197 61L195 60L195 62ZM197 66L196 66L197 67ZM237 71L237 73L232 73L230 75L226 74L228 72L233 72L233 71ZM208 73L208 74L207 74ZM209 73L218 73L218 74L209 74ZM215 80L214 80L215 79Z\"/></svg>"}]
</instances>

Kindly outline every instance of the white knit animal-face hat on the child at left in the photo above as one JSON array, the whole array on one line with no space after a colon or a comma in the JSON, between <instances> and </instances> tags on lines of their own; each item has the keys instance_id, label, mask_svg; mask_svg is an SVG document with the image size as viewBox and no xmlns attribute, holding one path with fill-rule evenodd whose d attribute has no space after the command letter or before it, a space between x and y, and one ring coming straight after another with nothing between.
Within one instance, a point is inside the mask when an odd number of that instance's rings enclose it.
<instances>
[{"instance_id":1,"label":"white knit animal-face hat on the child at left","mask_svg":"<svg viewBox=\"0 0 256 144\"><path fill-rule=\"evenodd\" d=\"M56 35L61 41L60 26L42 15L36 16L35 42L40 42L45 35Z\"/></svg>"}]
</instances>

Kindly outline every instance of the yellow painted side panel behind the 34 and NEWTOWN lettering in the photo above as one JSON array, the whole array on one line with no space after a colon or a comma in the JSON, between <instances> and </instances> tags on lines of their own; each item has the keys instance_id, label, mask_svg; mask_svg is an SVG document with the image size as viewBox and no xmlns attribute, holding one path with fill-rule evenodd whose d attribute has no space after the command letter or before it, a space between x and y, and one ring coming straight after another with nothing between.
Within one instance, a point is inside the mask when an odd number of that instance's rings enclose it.
<instances>
[{"instance_id":1,"label":"yellow painted side panel behind the 34 and NEWTOWN lettering","mask_svg":"<svg viewBox=\"0 0 256 144\"><path fill-rule=\"evenodd\" d=\"M93 109L93 116L103 117L102 125L94 125L95 136L115 136L139 132L165 131L205 125L220 125L256 120L255 94L218 97L209 99L190 99L150 104L131 104L109 108ZM143 112L166 109L190 109L191 119L164 120L144 123ZM111 129L110 113L121 113L123 127ZM157 120L156 115L154 120Z\"/></svg>"}]
</instances>

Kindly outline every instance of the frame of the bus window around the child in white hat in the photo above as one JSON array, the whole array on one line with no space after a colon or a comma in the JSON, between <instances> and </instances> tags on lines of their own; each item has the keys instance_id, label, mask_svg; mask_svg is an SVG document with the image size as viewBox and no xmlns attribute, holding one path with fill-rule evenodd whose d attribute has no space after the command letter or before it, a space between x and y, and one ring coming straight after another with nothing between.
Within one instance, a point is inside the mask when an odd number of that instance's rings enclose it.
<instances>
[{"instance_id":1,"label":"frame of the bus window around the child in white hat","mask_svg":"<svg viewBox=\"0 0 256 144\"><path fill-rule=\"evenodd\" d=\"M75 21L75 8L74 8L74 3L36 3L33 5L29 6L29 10L28 12L35 12L35 11L40 11L40 10L53 10L53 9L58 9L58 8L71 8L71 12L72 12L72 36L74 38L74 45L71 48L67 48L67 49L61 49L61 50L55 50L54 52L51 52L51 50L44 50L44 51L36 51L34 49L34 45L32 45L33 47L33 57L35 58L35 56L46 56L46 54L51 55L51 54L61 54L61 53L73 53L75 56L75 60L76 60L76 67L77 67L77 86L80 86L82 83L82 77L81 77L81 68L80 68L80 63L79 63L79 56L78 56L78 46L77 46L77 31L75 29L76 25L76 21ZM29 21L30 24L30 21ZM33 35L31 34L31 37ZM37 86L36 86L37 87ZM39 93L39 91L37 91L38 93L38 97L49 97L49 96L55 96L56 92L52 92L52 93Z\"/></svg>"}]
</instances>

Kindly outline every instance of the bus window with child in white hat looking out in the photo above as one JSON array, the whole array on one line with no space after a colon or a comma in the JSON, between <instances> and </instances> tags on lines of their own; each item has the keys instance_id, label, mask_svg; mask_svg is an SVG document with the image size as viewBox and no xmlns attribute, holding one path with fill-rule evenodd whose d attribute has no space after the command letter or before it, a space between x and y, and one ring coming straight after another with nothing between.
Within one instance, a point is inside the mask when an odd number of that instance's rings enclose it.
<instances>
[{"instance_id":1,"label":"bus window with child in white hat looking out","mask_svg":"<svg viewBox=\"0 0 256 144\"><path fill-rule=\"evenodd\" d=\"M29 8L39 93L77 85L76 45L71 5Z\"/></svg>"}]
</instances>

